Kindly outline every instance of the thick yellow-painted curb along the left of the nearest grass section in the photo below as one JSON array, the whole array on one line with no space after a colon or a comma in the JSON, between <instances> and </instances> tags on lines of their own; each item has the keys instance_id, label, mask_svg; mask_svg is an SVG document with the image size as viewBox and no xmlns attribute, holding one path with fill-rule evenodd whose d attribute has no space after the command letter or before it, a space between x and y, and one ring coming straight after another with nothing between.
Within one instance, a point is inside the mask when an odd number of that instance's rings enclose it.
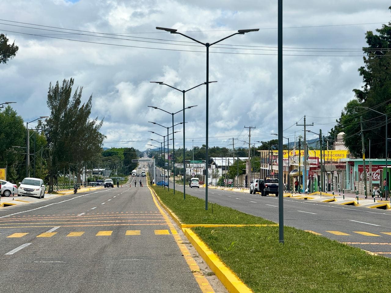
<instances>
[{"instance_id":1,"label":"thick yellow-painted curb along the left of the nearest grass section","mask_svg":"<svg viewBox=\"0 0 391 293\"><path fill-rule=\"evenodd\" d=\"M210 250L205 243L189 228L183 228L187 239L216 274L222 284L230 293L252 293L248 288L224 263Z\"/></svg>"}]
</instances>

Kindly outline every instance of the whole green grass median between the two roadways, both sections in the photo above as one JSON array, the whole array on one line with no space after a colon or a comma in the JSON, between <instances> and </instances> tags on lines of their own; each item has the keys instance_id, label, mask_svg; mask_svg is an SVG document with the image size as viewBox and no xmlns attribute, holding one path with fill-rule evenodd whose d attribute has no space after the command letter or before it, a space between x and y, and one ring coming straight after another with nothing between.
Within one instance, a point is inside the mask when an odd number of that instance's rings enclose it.
<instances>
[{"instance_id":1,"label":"whole green grass median between the two roadways, both sections","mask_svg":"<svg viewBox=\"0 0 391 293\"><path fill-rule=\"evenodd\" d=\"M176 191L174 196L153 187L182 223L272 223L229 207ZM366 254L303 230L285 227L285 244L278 227L194 227L192 230L255 293L386 293L390 291L391 259Z\"/></svg>"}]
</instances>

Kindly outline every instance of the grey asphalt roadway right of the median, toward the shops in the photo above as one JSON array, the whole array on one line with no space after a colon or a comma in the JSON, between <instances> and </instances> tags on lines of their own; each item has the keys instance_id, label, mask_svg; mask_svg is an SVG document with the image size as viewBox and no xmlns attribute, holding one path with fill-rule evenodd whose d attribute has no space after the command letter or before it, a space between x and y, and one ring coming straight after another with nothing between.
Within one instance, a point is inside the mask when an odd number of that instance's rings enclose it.
<instances>
[{"instance_id":1,"label":"grey asphalt roadway right of the median, toward the shops","mask_svg":"<svg viewBox=\"0 0 391 293\"><path fill-rule=\"evenodd\" d=\"M172 184L170 184L171 188ZM176 190L183 186L176 184ZM186 193L205 198L204 188ZM278 197L208 189L208 201L278 223ZM309 230L327 238L391 257L391 210L342 206L284 198L284 225Z\"/></svg>"}]
</instances>

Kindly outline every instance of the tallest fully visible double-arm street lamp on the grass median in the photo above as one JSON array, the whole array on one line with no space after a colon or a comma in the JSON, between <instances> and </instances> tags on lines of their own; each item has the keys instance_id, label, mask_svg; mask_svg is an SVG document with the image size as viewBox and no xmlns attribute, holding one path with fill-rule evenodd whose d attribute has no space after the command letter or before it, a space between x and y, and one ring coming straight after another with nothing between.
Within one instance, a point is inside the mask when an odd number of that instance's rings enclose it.
<instances>
[{"instance_id":1,"label":"tallest fully visible double-arm street lamp on the grass median","mask_svg":"<svg viewBox=\"0 0 391 293\"><path fill-rule=\"evenodd\" d=\"M191 39L192 41L195 41L196 43L199 43L201 45L204 45L206 47L206 142L205 142L205 209L208 209L208 123L209 123L209 47L213 46L225 39L228 39L232 36L235 36L237 34L245 34L246 32L256 32L259 29L248 29L248 30L238 30L234 34L231 34L229 36L226 36L225 38L219 39L218 41L215 41L213 43L203 43L201 41L198 41L190 36L187 36L185 34L182 34L181 32L178 32L176 29L169 29L165 27L156 27L158 30L165 30L166 32L170 32L171 34L180 34L181 36L184 36L185 38Z\"/></svg>"}]
</instances>

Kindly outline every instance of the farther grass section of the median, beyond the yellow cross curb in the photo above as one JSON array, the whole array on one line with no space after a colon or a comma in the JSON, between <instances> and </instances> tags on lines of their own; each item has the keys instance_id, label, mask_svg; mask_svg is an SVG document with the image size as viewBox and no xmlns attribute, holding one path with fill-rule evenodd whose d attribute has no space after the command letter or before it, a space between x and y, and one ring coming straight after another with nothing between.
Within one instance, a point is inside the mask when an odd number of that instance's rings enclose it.
<instances>
[{"instance_id":1,"label":"farther grass section of the median, beyond the yellow cross curb","mask_svg":"<svg viewBox=\"0 0 391 293\"><path fill-rule=\"evenodd\" d=\"M242 213L230 207L209 203L208 211L205 210L205 200L186 195L176 190L152 186L163 203L173 211L184 224L274 224L269 220ZM213 213L212 213L213 205Z\"/></svg>"}]
</instances>

